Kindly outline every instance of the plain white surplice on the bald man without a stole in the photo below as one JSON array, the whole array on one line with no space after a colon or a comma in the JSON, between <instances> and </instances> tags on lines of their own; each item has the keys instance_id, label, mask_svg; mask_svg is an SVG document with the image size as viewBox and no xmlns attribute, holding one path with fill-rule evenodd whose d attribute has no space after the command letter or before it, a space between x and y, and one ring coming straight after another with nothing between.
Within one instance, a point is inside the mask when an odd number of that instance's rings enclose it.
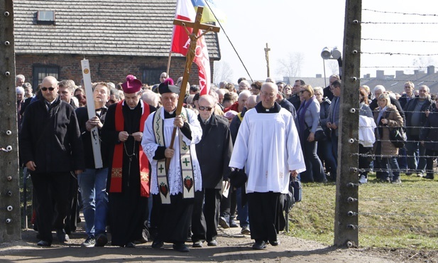
<instances>
[{"instance_id":1,"label":"plain white surplice on the bald man without a stole","mask_svg":"<svg viewBox=\"0 0 438 263\"><path fill-rule=\"evenodd\" d=\"M229 166L245 167L246 193L288 193L290 171L306 170L292 114L246 112Z\"/></svg>"}]
</instances>

